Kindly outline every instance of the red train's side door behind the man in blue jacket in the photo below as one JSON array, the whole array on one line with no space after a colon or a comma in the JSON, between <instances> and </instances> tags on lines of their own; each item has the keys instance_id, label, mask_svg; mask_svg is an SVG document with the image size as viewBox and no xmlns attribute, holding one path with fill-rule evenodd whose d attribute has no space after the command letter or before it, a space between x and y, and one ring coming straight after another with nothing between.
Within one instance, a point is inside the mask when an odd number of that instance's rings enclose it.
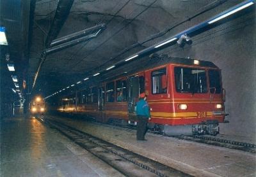
<instances>
[{"instance_id":1,"label":"red train's side door behind the man in blue jacket","mask_svg":"<svg viewBox=\"0 0 256 177\"><path fill-rule=\"evenodd\" d=\"M136 121L136 102L139 95L144 92L144 76L131 76L128 78L128 113L129 120Z\"/></svg>"}]
</instances>

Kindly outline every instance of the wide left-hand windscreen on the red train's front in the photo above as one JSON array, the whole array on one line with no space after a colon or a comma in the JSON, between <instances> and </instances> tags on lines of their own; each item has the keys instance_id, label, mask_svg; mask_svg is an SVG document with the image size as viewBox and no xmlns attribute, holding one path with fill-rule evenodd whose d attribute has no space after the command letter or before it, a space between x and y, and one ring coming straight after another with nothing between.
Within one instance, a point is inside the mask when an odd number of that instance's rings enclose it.
<instances>
[{"instance_id":1,"label":"wide left-hand windscreen on the red train's front","mask_svg":"<svg viewBox=\"0 0 256 177\"><path fill-rule=\"evenodd\" d=\"M202 94L207 92L206 71L204 69L175 67L177 92Z\"/></svg>"}]
</instances>

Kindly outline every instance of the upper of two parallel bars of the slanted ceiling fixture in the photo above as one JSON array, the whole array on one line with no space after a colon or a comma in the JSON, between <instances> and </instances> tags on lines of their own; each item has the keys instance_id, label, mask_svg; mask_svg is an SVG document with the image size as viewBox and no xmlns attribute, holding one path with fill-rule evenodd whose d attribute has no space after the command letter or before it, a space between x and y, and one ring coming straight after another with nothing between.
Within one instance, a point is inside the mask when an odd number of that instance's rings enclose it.
<instances>
[{"instance_id":1,"label":"upper of two parallel bars of the slanted ceiling fixture","mask_svg":"<svg viewBox=\"0 0 256 177\"><path fill-rule=\"evenodd\" d=\"M56 46L56 45L61 45L63 43L67 43L67 42L72 41L74 39L81 38L85 35L92 34L93 32L97 32L100 29L105 29L105 28L106 28L106 24L95 25L94 27L90 27L90 28L84 29L82 31L74 32L72 34L69 34L67 36L63 36L63 37L58 38L58 39L54 39L51 42L50 46L52 47L52 46Z\"/></svg>"}]
</instances>

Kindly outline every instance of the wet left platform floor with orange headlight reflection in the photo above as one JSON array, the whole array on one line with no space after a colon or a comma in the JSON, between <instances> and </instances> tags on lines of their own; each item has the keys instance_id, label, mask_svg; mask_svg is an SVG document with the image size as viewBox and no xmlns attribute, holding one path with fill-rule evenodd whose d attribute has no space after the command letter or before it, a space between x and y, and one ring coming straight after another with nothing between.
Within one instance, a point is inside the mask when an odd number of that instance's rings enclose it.
<instances>
[{"instance_id":1,"label":"wet left platform floor with orange headlight reflection","mask_svg":"<svg viewBox=\"0 0 256 177\"><path fill-rule=\"evenodd\" d=\"M29 117L1 119L0 176L122 176Z\"/></svg>"}]
</instances>

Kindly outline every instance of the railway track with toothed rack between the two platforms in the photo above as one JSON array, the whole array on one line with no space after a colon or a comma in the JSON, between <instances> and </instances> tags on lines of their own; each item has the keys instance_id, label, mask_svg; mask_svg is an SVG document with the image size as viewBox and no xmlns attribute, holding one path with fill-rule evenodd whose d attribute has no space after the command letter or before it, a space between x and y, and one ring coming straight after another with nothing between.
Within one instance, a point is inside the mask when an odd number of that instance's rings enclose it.
<instances>
[{"instance_id":1,"label":"railway track with toothed rack between the two platforms","mask_svg":"<svg viewBox=\"0 0 256 177\"><path fill-rule=\"evenodd\" d=\"M58 130L74 143L124 174L124 176L191 176L51 118L38 118L38 120Z\"/></svg>"}]
</instances>

